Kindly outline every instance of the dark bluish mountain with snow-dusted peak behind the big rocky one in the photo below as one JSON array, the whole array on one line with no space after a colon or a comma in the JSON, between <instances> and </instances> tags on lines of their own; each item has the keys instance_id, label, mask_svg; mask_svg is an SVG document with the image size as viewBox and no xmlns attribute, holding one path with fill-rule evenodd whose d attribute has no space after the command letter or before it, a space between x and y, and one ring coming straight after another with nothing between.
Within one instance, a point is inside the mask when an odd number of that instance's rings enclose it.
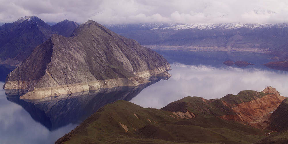
<instances>
[{"instance_id":1,"label":"dark bluish mountain with snow-dusted peak behind the big rocky one","mask_svg":"<svg viewBox=\"0 0 288 144\"><path fill-rule=\"evenodd\" d=\"M77 26L76 22L68 20L50 26L36 16L25 16L3 24L0 26L0 64L15 68L52 33L70 36Z\"/></svg>"}]
</instances>

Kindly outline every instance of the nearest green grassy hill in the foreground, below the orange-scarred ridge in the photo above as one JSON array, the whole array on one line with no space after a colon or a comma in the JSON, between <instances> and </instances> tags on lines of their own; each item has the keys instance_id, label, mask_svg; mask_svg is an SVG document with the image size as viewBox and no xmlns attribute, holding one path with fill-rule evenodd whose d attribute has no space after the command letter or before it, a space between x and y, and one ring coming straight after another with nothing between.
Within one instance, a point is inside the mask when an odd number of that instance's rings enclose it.
<instances>
[{"instance_id":1,"label":"nearest green grassy hill in the foreground, below the orange-scarred ridge","mask_svg":"<svg viewBox=\"0 0 288 144\"><path fill-rule=\"evenodd\" d=\"M267 132L211 115L178 119L170 111L116 101L99 109L56 143L253 143Z\"/></svg>"}]
</instances>

